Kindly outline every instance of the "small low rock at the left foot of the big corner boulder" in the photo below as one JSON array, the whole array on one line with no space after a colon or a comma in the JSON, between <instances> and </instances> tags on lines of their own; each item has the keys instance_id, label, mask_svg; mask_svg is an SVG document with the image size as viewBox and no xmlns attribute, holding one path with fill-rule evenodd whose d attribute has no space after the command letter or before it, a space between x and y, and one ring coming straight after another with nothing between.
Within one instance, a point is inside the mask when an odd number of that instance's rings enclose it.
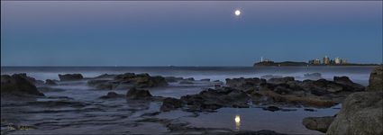
<instances>
[{"instance_id":1,"label":"small low rock at the left foot of the big corner boulder","mask_svg":"<svg viewBox=\"0 0 383 135\"><path fill-rule=\"evenodd\" d=\"M333 122L333 116L326 117L306 117L303 119L302 123L305 125L305 128L309 130L319 130L326 132L330 124Z\"/></svg>"}]
</instances>

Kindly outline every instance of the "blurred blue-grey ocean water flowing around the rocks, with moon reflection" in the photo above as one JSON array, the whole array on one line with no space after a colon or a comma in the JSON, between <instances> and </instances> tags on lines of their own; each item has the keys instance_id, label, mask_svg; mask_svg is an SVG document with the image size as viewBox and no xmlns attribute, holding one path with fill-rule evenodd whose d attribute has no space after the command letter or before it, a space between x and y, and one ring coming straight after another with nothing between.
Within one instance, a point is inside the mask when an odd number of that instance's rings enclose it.
<instances>
[{"instance_id":1,"label":"blurred blue-grey ocean water flowing around the rocks, with moon reflection","mask_svg":"<svg viewBox=\"0 0 383 135\"><path fill-rule=\"evenodd\" d=\"M58 74L81 73L85 77L102 74L149 73L151 76L194 77L196 80L210 78L221 80L233 77L296 76L304 79L307 73L321 73L325 79L333 76L349 76L352 81L368 85L369 73L374 67L2 67L1 74L27 73L36 79L59 79ZM169 83L168 86L149 88L153 95L179 98L186 94L197 94L208 87L210 82L196 84ZM207 128L210 130L275 130L291 134L322 134L319 131L307 130L302 120L309 116L331 116L339 112L342 104L331 108L311 108L315 112L302 108L288 108L294 111L269 112L260 108L221 108L217 112L192 112L180 110L160 112L158 115L146 115L159 112L160 102L135 103L125 99L102 100L100 96L111 90L97 90L88 86L86 80L59 82L50 86L59 91L47 91L47 97L35 102L66 101L81 103L58 106L5 103L2 100L2 134L41 134L41 133L167 133L167 123L184 123L187 127ZM126 89L113 90L126 94ZM68 98L62 98L68 97ZM11 104L11 105L10 105ZM28 125L33 130L7 130L10 123ZM179 133L201 133L198 130ZM203 132L202 132L203 133Z\"/></svg>"}]
</instances>

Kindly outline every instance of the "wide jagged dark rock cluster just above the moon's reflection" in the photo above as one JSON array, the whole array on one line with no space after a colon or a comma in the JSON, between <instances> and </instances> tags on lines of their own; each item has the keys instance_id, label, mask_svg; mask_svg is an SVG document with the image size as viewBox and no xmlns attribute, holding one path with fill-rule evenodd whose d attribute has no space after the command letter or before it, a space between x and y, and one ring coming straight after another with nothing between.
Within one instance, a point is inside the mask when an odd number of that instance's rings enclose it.
<instances>
[{"instance_id":1,"label":"wide jagged dark rock cluster just above the moon's reflection","mask_svg":"<svg viewBox=\"0 0 383 135\"><path fill-rule=\"evenodd\" d=\"M294 77L226 79L226 85L251 95L253 103L279 105L306 105L330 107L353 92L363 91L362 85L353 83L347 76L334 76L333 81L305 80Z\"/></svg>"}]
</instances>

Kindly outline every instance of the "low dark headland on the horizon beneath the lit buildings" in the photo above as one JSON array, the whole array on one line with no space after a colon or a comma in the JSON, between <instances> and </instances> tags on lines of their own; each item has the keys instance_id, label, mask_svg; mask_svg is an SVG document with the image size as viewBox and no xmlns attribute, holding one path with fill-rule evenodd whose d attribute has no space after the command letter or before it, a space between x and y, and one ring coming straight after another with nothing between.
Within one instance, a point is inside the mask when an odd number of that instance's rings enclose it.
<instances>
[{"instance_id":1,"label":"low dark headland on the horizon beneath the lit buildings","mask_svg":"<svg viewBox=\"0 0 383 135\"><path fill-rule=\"evenodd\" d=\"M310 64L307 62L296 62L296 61L283 61L283 62L274 62L274 61L262 61L254 63L254 67L285 67L285 66L379 66L378 64L360 64L360 63L347 63L347 64Z\"/></svg>"}]
</instances>

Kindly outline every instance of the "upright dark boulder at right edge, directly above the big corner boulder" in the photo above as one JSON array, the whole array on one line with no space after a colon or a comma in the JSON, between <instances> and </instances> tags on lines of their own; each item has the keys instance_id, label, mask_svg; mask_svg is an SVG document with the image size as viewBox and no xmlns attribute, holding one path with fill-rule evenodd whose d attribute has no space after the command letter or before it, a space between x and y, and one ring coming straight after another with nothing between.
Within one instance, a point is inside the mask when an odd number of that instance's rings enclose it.
<instances>
[{"instance_id":1,"label":"upright dark boulder at right edge, directly above the big corner boulder","mask_svg":"<svg viewBox=\"0 0 383 135\"><path fill-rule=\"evenodd\" d=\"M383 91L383 66L376 67L369 75L368 91Z\"/></svg>"}]
</instances>

